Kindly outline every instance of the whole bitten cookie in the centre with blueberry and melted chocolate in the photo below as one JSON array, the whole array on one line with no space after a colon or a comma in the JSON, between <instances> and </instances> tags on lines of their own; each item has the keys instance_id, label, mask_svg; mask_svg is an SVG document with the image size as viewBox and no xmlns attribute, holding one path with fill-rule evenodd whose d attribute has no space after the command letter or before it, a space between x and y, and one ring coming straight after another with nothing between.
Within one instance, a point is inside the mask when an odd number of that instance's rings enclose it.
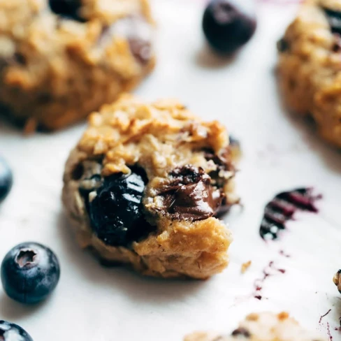
<instances>
[{"instance_id":1,"label":"whole bitten cookie in the centre with blueberry and melted chocolate","mask_svg":"<svg viewBox=\"0 0 341 341\"><path fill-rule=\"evenodd\" d=\"M144 275L205 279L228 264L217 215L238 198L228 134L176 101L130 95L92 113L64 173L82 247Z\"/></svg>"}]
</instances>

